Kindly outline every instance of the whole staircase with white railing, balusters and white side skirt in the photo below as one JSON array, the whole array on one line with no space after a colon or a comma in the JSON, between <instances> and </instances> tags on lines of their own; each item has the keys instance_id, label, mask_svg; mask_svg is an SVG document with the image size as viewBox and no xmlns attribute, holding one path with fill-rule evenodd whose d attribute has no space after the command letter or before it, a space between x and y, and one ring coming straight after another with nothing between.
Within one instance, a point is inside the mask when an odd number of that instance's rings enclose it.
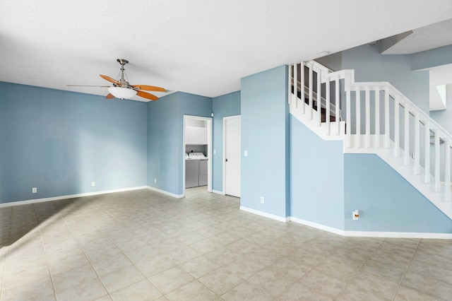
<instances>
[{"instance_id":1,"label":"whole staircase with white railing, balusters and white side skirt","mask_svg":"<svg viewBox=\"0 0 452 301\"><path fill-rule=\"evenodd\" d=\"M344 153L374 153L452 219L452 136L387 82L316 61L289 67L290 114ZM321 110L318 110L319 107Z\"/></svg>"}]
</instances>

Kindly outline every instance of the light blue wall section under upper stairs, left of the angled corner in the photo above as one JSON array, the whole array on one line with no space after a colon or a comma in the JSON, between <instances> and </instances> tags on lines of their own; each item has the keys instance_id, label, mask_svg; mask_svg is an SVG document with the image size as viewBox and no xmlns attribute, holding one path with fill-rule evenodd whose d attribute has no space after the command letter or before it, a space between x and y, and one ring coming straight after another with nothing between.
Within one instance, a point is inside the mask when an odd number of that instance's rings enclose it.
<instances>
[{"instance_id":1,"label":"light blue wall section under upper stairs, left of the angled corner","mask_svg":"<svg viewBox=\"0 0 452 301\"><path fill-rule=\"evenodd\" d=\"M290 117L290 216L344 230L343 141Z\"/></svg>"}]
</instances>

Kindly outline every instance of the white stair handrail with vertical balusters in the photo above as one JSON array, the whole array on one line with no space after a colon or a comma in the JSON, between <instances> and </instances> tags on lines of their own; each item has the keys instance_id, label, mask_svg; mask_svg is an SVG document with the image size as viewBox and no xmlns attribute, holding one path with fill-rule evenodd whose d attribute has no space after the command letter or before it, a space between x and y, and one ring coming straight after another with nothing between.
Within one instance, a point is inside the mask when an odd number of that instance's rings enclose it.
<instances>
[{"instance_id":1,"label":"white stair handrail with vertical balusters","mask_svg":"<svg viewBox=\"0 0 452 301\"><path fill-rule=\"evenodd\" d=\"M298 66L302 66L302 73L300 81L298 81L297 73L295 72ZM309 87L304 85L304 66L309 68ZM446 129L444 129L438 122L436 122L432 117L429 116L426 112L421 110L414 102L408 99L403 93L400 92L397 88L395 88L391 83L386 81L380 82L355 82L355 71L351 69L344 69L341 71L331 71L325 66L319 64L317 61L307 61L302 62L301 64L295 64L293 66L293 74L292 69L289 69L289 76L292 76L289 83L297 83L296 88L300 89L304 88L304 94L309 95L309 105L307 105L307 120L313 119L313 111L315 110L313 107L314 102L314 84L313 77L314 72L317 74L316 86L319 91L322 83L328 83L326 85L326 97L327 106L331 106L331 102L329 102L329 83L331 81L335 81L336 83L336 94L338 95L338 83L340 80L344 80L343 88L345 90L345 105L340 105L340 107L345 106L345 148L391 148L394 150L393 157L400 157L400 151L403 151L403 165L411 165L412 161L414 161L414 175L420 175L420 170L424 169L424 183L428 184L431 181L431 178L434 179L434 192L441 192L441 184L444 183L444 187L449 187L451 185L451 146L452 146L452 134L450 134ZM292 74L292 75L291 75ZM301 84L303 82L303 84ZM294 87L295 88L295 87ZM308 91L307 91L307 90ZM294 92L297 91L294 89ZM351 114L351 101L352 101L352 91L355 92L355 110L359 112L359 114L355 115L354 124L352 124ZM375 105L375 110L371 112L371 91L373 93L374 103L378 104L377 101L381 100L381 92L383 92L383 107L384 112L380 114L379 105ZM378 91L378 93L377 93ZM364 92L364 98L361 97L362 92ZM296 93L297 95L297 93ZM321 95L320 95L321 97ZM340 104L340 97L336 96L336 99L339 99L339 102L336 101L336 104ZM322 99L322 97L321 97ZM393 105L393 112L390 114L390 100ZM362 109L362 100L364 100L365 110ZM380 102L381 103L381 102ZM289 97L289 104L292 105L292 97ZM295 98L294 109L297 109L298 100ZM301 106L301 113L305 114L305 105L304 100ZM339 108L340 108L339 107ZM402 111L400 112L400 107ZM292 106L291 106L292 108ZM337 108L338 109L338 108ZM292 110L292 109L291 109ZM337 111L336 111L337 112ZM364 122L361 123L361 114L364 113ZM403 119L401 119L400 113L403 113ZM371 116L374 116L374 134L376 136L376 140L371 139ZM410 116L414 117L414 122L410 122ZM321 116L318 113L316 116L316 127L321 128L322 124L327 124L326 129L326 137L331 135L330 126L328 125L330 122L326 120L326 122L321 122ZM391 120L393 120L391 124ZM403 128L400 121L404 122ZM380 138L380 122L383 121L383 129L384 129L384 139L386 143L383 146ZM420 124L424 126L424 132L420 131ZM355 126L355 135L352 135L352 125ZM364 135L362 135L362 127L364 127ZM401 129L402 128L402 129ZM336 122L336 133L333 134L335 136L342 136L344 131L340 131L340 122ZM412 132L414 134L412 134ZM433 132L433 136L432 136ZM403 139L401 139L400 133L403 133ZM393 137L391 138L391 135ZM351 138L354 136L355 144L351 145ZM364 142L362 142L362 136L364 136ZM420 141L422 136L424 136L424 146L421 148ZM431 138L434 138L434 152L432 153L430 150ZM403 141L403 145L400 145L400 140ZM411 157L410 154L410 142L414 141L414 153ZM364 145L364 144L365 145ZM440 144L444 143L444 171L441 171L441 150ZM402 148L403 147L403 148ZM424 151L424 166L420 164L420 153ZM432 155L431 155L432 153ZM434 160L434 165L431 166L430 160ZM433 167L433 168L431 168ZM441 177L444 176L444 182L441 182ZM444 189L445 201L451 201L451 189Z\"/></svg>"}]
</instances>

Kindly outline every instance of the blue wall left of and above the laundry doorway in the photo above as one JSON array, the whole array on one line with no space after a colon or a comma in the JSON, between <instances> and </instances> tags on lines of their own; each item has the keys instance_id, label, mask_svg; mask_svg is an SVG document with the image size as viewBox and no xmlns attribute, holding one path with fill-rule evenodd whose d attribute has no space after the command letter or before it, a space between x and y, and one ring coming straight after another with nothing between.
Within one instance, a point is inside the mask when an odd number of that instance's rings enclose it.
<instances>
[{"instance_id":1,"label":"blue wall left of and above the laundry doorway","mask_svg":"<svg viewBox=\"0 0 452 301\"><path fill-rule=\"evenodd\" d=\"M148 102L148 186L183 194L184 114L210 117L211 113L211 98L189 93Z\"/></svg>"}]
</instances>

